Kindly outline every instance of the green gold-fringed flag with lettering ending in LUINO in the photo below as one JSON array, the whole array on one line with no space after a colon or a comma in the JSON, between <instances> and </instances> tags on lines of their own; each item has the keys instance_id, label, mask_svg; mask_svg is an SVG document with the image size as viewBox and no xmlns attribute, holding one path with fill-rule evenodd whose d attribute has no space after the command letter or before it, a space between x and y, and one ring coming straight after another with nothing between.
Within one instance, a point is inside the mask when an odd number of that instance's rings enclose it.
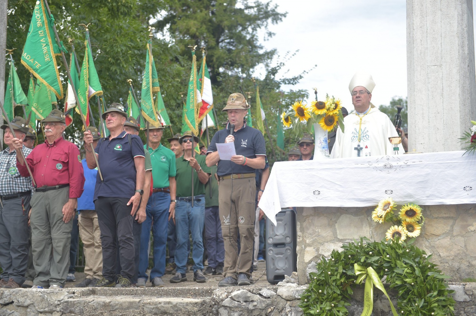
<instances>
[{"instance_id":1,"label":"green gold-fringed flag with lettering ending in LUINO","mask_svg":"<svg viewBox=\"0 0 476 316\"><path fill-rule=\"evenodd\" d=\"M89 126L89 99L102 94L102 87L99 82L96 67L94 67L88 39L89 33L86 33L86 40L84 41L86 51L84 54L83 65L81 67L81 74L79 76L79 87L75 87L75 89L78 90L79 105L81 106L81 111L83 112L83 117L87 126ZM79 109L76 109L76 112L79 113Z\"/></svg>"}]
</instances>

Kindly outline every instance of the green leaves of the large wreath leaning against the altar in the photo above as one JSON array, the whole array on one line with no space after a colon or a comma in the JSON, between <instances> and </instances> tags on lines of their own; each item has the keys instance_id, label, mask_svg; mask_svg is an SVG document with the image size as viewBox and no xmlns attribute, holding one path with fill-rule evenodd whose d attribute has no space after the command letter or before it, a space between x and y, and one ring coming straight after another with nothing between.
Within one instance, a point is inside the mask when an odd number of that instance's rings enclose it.
<instances>
[{"instance_id":1,"label":"green leaves of the large wreath leaning against the altar","mask_svg":"<svg viewBox=\"0 0 476 316\"><path fill-rule=\"evenodd\" d=\"M408 242L370 242L361 237L322 257L317 273L310 273L311 283L301 296L304 315L345 316L346 306L355 286L354 264L373 267L397 293L397 312L407 316L454 315L453 292L443 275L431 263L431 255ZM328 273L330 272L330 274ZM334 306L332 306L334 305ZM432 314L434 313L434 314Z\"/></svg>"}]
</instances>

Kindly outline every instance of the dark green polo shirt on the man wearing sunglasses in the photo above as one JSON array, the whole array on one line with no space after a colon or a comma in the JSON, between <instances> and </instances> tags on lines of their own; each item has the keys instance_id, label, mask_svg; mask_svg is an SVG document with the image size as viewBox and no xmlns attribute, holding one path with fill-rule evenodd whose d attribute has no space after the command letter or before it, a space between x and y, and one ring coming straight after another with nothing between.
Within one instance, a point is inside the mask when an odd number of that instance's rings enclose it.
<instances>
[{"instance_id":1,"label":"dark green polo shirt on the man wearing sunglasses","mask_svg":"<svg viewBox=\"0 0 476 316\"><path fill-rule=\"evenodd\" d=\"M192 196L192 167L190 167L188 160L185 160L183 157L184 156L175 159L177 165L177 175L175 176L175 179L177 180L178 198ZM207 164L205 163L205 156L195 155L195 159L197 159L203 172L211 174L210 168L207 167ZM205 194L205 185L198 179L197 171L193 170L193 195L197 196L202 194Z\"/></svg>"}]
</instances>

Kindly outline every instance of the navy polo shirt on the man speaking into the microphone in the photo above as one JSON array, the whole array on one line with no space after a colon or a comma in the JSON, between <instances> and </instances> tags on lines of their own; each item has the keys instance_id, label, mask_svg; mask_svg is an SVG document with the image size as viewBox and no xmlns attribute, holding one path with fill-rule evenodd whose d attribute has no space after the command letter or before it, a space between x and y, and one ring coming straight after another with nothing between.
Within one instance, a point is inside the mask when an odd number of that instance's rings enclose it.
<instances>
[{"instance_id":1,"label":"navy polo shirt on the man speaking into the microphone","mask_svg":"<svg viewBox=\"0 0 476 316\"><path fill-rule=\"evenodd\" d=\"M210 146L208 146L208 153L217 151L217 143L224 143L225 138L230 135L229 123L226 129L218 130L211 139ZM237 155L245 156L246 158L256 158L256 156L266 156L265 138L263 134L256 129L243 124L243 127L233 133L235 137L235 150ZM238 165L231 160L218 160L217 174L220 177L228 176L236 173L254 173L255 168L249 166Z\"/></svg>"}]
</instances>

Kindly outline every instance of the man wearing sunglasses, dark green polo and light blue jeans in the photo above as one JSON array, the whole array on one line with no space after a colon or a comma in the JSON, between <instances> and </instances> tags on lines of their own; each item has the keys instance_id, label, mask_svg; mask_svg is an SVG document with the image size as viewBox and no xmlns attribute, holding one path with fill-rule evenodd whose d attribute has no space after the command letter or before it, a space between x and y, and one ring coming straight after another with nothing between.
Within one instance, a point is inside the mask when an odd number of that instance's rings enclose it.
<instances>
[{"instance_id":1,"label":"man wearing sunglasses, dark green polo and light blue jeans","mask_svg":"<svg viewBox=\"0 0 476 316\"><path fill-rule=\"evenodd\" d=\"M177 248L175 264L177 265L171 283L187 281L188 231L192 235L193 280L206 282L203 275L203 224L205 218L205 184L211 174L205 157L195 155L195 145L199 139L192 132L186 131L178 139L183 148L183 156L176 159L177 165L177 201L175 205L175 231ZM193 182L192 182L193 174ZM192 191L193 188L193 191ZM193 201L193 207L192 207Z\"/></svg>"}]
</instances>

